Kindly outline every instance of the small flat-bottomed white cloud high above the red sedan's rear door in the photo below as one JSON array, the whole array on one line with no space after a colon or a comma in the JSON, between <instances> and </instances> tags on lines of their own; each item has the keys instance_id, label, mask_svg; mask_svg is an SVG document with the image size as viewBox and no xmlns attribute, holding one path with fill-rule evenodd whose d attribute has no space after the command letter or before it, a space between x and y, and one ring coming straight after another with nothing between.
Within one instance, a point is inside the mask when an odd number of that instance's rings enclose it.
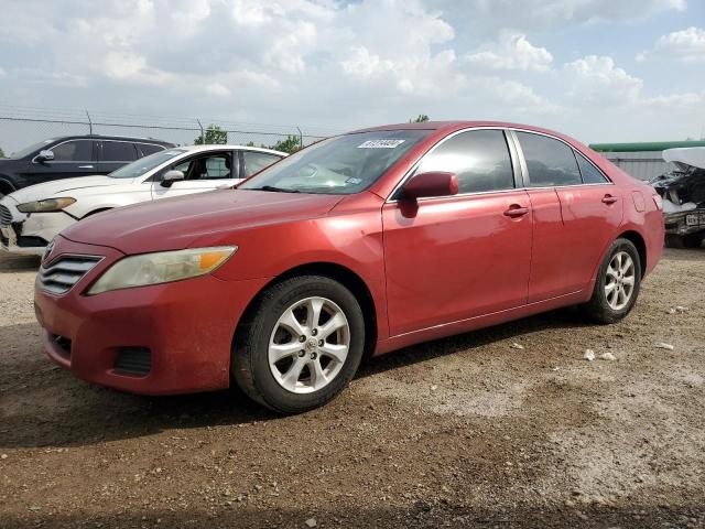
<instances>
[{"instance_id":1,"label":"small flat-bottomed white cloud high above the red sedan's rear door","mask_svg":"<svg viewBox=\"0 0 705 529\"><path fill-rule=\"evenodd\" d=\"M467 61L492 69L546 72L551 68L553 55L545 47L532 45L527 35L503 31L497 42L487 43L468 54Z\"/></svg>"}]
</instances>

